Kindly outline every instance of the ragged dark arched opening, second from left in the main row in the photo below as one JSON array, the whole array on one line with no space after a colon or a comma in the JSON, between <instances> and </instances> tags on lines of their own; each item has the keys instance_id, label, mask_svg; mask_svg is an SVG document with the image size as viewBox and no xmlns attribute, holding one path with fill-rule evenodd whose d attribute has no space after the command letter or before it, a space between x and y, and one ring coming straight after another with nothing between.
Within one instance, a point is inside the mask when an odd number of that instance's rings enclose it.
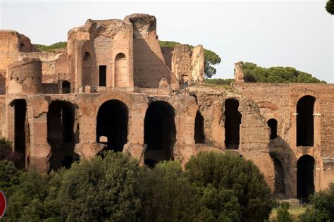
<instances>
[{"instance_id":1,"label":"ragged dark arched opening, second from left in the main row","mask_svg":"<svg viewBox=\"0 0 334 222\"><path fill-rule=\"evenodd\" d=\"M66 156L74 155L78 138L74 132L75 107L68 101L53 101L47 113L47 141L51 146L50 169L58 170Z\"/></svg>"}]
</instances>

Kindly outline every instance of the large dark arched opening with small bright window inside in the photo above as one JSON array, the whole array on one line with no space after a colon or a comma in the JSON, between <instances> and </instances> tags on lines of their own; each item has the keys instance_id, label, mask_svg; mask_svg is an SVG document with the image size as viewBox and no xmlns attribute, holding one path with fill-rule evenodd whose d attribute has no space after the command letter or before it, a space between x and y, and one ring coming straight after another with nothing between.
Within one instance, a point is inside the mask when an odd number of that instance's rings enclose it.
<instances>
[{"instance_id":1,"label":"large dark arched opening with small bright window inside","mask_svg":"<svg viewBox=\"0 0 334 222\"><path fill-rule=\"evenodd\" d=\"M106 150L123 151L128 140L128 107L119 100L104 102L97 113L97 142Z\"/></svg>"}]
</instances>

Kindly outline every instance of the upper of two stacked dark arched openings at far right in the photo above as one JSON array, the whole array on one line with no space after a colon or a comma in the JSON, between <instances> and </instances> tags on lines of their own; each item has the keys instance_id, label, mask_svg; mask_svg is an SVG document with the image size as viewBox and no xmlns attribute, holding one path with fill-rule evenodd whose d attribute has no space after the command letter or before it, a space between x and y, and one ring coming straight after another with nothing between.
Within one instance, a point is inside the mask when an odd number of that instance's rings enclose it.
<instances>
[{"instance_id":1,"label":"upper of two stacked dark arched openings at far right","mask_svg":"<svg viewBox=\"0 0 334 222\"><path fill-rule=\"evenodd\" d=\"M313 110L316 98L304 96L297 102L297 147L314 146Z\"/></svg>"}]
</instances>

